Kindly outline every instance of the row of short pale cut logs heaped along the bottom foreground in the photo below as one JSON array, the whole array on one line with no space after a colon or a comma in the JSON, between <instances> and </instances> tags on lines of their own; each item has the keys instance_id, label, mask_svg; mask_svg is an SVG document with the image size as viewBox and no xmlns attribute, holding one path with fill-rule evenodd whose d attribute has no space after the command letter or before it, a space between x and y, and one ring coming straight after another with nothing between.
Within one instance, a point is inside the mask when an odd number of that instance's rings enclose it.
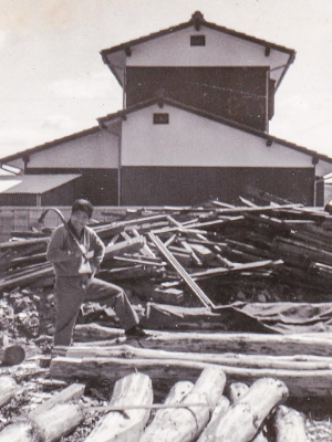
<instances>
[{"instance_id":1,"label":"row of short pale cut logs heaped along the bottom foreground","mask_svg":"<svg viewBox=\"0 0 332 442\"><path fill-rule=\"evenodd\" d=\"M288 404L288 387L276 378L247 385L228 382L227 375L210 365L193 381L178 380L160 402L154 382L136 371L110 388L107 399L97 401L84 383L62 386L50 394L29 394L12 376L0 377L0 441L6 442L326 442L331 424L318 424ZM31 383L31 381L30 381ZM56 381L53 380L53 385ZM10 403L30 396L24 411L10 417Z\"/></svg>"}]
</instances>

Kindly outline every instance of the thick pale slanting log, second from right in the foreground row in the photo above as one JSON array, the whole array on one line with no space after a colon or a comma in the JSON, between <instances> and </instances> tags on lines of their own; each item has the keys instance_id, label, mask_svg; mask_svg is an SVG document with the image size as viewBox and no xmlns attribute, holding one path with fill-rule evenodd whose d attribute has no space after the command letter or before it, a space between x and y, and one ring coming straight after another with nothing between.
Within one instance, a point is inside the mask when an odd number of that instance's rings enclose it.
<instances>
[{"instance_id":1,"label":"thick pale slanting log, second from right in the foreground row","mask_svg":"<svg viewBox=\"0 0 332 442\"><path fill-rule=\"evenodd\" d=\"M288 389L283 382L272 378L258 379L249 391L221 415L215 432L210 434L210 440L251 441L272 408L287 397Z\"/></svg>"}]
</instances>

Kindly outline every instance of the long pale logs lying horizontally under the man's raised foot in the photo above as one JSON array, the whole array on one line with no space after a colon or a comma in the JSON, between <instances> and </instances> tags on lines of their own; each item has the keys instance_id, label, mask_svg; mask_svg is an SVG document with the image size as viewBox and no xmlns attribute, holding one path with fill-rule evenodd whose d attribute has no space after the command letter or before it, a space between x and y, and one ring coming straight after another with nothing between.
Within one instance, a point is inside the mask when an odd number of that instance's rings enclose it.
<instances>
[{"instance_id":1,"label":"long pale logs lying horizontally under the man's raised foot","mask_svg":"<svg viewBox=\"0 0 332 442\"><path fill-rule=\"evenodd\" d=\"M169 387L178 377L193 381L209 364L218 365L230 382L250 383L277 377L297 398L330 397L332 341L324 335L186 334L155 332L144 340L117 346L116 340L62 348L51 362L51 375L63 379L116 380L137 369L155 388ZM203 350L204 349L204 350ZM60 350L60 349L59 349Z\"/></svg>"}]
</instances>

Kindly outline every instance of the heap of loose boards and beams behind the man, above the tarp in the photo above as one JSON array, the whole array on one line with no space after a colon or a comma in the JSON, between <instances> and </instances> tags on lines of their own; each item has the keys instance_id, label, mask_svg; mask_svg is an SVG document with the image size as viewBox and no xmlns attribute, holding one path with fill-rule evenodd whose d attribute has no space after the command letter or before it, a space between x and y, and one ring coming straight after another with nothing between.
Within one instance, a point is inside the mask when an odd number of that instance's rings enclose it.
<instances>
[{"instance_id":1,"label":"heap of loose boards and beams behind the man, above the tarp","mask_svg":"<svg viewBox=\"0 0 332 442\"><path fill-rule=\"evenodd\" d=\"M100 276L134 282L136 291L141 286L141 294L151 299L181 304L190 293L197 305L208 307L234 298L292 301L290 291L283 296L281 291L263 290L273 282L298 287L312 298L330 293L332 218L320 209L212 201L197 208L127 210L122 220L116 212L108 214L117 220L93 225L106 245ZM45 260L50 229L37 234L0 244L1 292L52 284L52 266ZM247 283L246 293L239 281ZM227 288L234 284L231 298Z\"/></svg>"}]
</instances>

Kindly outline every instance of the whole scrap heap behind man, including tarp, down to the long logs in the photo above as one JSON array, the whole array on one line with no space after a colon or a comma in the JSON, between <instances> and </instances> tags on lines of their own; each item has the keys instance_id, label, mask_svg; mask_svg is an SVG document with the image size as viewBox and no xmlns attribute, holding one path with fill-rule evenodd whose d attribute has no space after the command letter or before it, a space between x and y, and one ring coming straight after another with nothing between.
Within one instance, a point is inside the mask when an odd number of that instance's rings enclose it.
<instances>
[{"instance_id":1,"label":"whole scrap heap behind man, including tarp, down to the long logs","mask_svg":"<svg viewBox=\"0 0 332 442\"><path fill-rule=\"evenodd\" d=\"M98 276L126 290L151 329L330 332L332 218L243 201L108 210L93 224L106 245ZM53 334L50 233L40 225L0 243L0 329L14 336ZM84 305L79 323L96 320L120 327L110 309Z\"/></svg>"}]
</instances>

